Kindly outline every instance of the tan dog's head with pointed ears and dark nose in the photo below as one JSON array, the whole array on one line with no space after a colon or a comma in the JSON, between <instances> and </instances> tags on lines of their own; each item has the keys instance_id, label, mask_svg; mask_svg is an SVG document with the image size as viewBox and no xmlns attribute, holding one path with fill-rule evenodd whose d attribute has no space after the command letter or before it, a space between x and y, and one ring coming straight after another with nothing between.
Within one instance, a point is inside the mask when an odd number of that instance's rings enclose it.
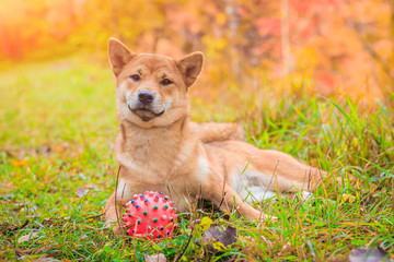
<instances>
[{"instance_id":1,"label":"tan dog's head with pointed ears and dark nose","mask_svg":"<svg viewBox=\"0 0 394 262\"><path fill-rule=\"evenodd\" d=\"M142 128L165 127L188 114L187 90L201 71L201 52L193 52L181 60L137 55L111 38L108 57L116 76L120 120Z\"/></svg>"}]
</instances>

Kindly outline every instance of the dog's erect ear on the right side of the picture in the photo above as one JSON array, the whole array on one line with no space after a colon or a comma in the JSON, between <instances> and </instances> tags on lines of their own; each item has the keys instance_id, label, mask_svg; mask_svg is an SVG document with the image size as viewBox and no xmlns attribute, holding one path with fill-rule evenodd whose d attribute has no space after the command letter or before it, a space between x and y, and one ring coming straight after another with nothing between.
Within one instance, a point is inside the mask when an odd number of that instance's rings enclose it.
<instances>
[{"instance_id":1,"label":"dog's erect ear on the right side of the picture","mask_svg":"<svg viewBox=\"0 0 394 262\"><path fill-rule=\"evenodd\" d=\"M178 67L181 73L184 76L186 87L190 87L197 80L199 73L201 72L204 62L202 52L192 52L183 59L178 60Z\"/></svg>"}]
</instances>

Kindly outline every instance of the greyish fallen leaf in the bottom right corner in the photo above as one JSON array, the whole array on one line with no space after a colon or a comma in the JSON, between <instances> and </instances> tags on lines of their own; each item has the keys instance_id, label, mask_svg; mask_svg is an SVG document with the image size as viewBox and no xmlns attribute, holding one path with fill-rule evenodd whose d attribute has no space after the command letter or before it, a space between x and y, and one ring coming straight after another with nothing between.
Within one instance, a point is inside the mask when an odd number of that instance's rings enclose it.
<instances>
[{"instance_id":1,"label":"greyish fallen leaf in the bottom right corner","mask_svg":"<svg viewBox=\"0 0 394 262\"><path fill-rule=\"evenodd\" d=\"M390 255L381 248L357 248L349 254L350 262L390 262Z\"/></svg>"}]
</instances>

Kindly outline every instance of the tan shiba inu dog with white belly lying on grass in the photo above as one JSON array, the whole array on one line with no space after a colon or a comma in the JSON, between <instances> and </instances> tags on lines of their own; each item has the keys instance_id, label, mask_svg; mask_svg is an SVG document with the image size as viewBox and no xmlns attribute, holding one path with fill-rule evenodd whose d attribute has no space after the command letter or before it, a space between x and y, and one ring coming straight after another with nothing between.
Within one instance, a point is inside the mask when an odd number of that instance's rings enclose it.
<instances>
[{"instance_id":1,"label":"tan shiba inu dog with white belly lying on grass","mask_svg":"<svg viewBox=\"0 0 394 262\"><path fill-rule=\"evenodd\" d=\"M116 206L143 191L169 194L179 211L201 195L260 219L263 212L251 202L271 198L276 190L311 192L326 175L288 154L242 141L235 123L192 122L188 90L201 71L201 52L179 60L137 55L111 38L108 57L116 76L115 155L121 168L105 209L107 225L117 221Z\"/></svg>"}]
</instances>

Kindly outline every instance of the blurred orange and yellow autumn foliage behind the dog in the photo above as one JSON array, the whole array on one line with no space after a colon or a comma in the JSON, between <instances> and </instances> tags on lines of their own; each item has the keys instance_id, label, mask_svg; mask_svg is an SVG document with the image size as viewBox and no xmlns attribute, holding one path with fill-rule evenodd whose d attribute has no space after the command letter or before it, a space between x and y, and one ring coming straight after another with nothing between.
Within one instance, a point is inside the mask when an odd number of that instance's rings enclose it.
<instances>
[{"instance_id":1,"label":"blurred orange and yellow autumn foliage behind the dog","mask_svg":"<svg viewBox=\"0 0 394 262\"><path fill-rule=\"evenodd\" d=\"M392 0L1 1L2 59L104 53L115 36L140 52L202 50L212 86L286 79L325 96L393 102Z\"/></svg>"}]
</instances>

